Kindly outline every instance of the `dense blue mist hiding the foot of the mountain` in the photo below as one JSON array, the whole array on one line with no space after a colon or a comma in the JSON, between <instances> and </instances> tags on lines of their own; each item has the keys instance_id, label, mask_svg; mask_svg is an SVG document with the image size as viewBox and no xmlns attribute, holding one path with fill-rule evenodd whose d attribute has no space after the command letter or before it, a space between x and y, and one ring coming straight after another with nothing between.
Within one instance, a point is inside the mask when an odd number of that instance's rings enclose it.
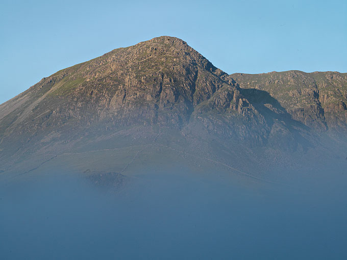
<instances>
[{"instance_id":1,"label":"dense blue mist hiding the foot of the mountain","mask_svg":"<svg viewBox=\"0 0 347 260\"><path fill-rule=\"evenodd\" d=\"M3 183L1 258L344 259L346 179L334 172L290 185L177 171L116 188L66 172Z\"/></svg>"}]
</instances>

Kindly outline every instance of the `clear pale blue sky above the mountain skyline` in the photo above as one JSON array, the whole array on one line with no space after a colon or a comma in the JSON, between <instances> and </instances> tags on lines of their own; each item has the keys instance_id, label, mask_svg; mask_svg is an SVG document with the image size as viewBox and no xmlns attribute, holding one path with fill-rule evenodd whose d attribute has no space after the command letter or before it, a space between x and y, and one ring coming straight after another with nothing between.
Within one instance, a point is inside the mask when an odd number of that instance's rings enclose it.
<instances>
[{"instance_id":1,"label":"clear pale blue sky above the mountain skyline","mask_svg":"<svg viewBox=\"0 0 347 260\"><path fill-rule=\"evenodd\" d=\"M0 3L0 103L65 67L169 35L227 73L347 72L347 1Z\"/></svg>"}]
</instances>

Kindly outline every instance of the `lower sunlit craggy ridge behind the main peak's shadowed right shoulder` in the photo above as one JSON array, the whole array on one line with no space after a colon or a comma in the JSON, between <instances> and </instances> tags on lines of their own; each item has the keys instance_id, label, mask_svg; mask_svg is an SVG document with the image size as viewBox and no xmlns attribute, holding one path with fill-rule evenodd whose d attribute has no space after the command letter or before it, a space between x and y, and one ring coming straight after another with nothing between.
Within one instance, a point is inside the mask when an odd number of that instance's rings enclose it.
<instances>
[{"instance_id":1,"label":"lower sunlit craggy ridge behind the main peak's shadowed right shoulder","mask_svg":"<svg viewBox=\"0 0 347 260\"><path fill-rule=\"evenodd\" d=\"M347 75L338 72L270 72L227 76L242 89L264 90L306 126L319 131L347 130Z\"/></svg>"}]
</instances>

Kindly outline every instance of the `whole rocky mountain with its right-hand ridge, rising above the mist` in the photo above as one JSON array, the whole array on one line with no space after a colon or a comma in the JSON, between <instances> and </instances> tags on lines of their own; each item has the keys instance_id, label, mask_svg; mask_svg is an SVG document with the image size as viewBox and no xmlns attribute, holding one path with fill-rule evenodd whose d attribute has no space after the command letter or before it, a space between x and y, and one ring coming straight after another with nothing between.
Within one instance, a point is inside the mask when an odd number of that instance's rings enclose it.
<instances>
[{"instance_id":1,"label":"whole rocky mountain with its right-hand ridge, rising above the mist","mask_svg":"<svg viewBox=\"0 0 347 260\"><path fill-rule=\"evenodd\" d=\"M118 178L186 167L266 180L279 166L344 163L346 103L347 73L228 75L186 42L158 37L60 70L0 105L0 174Z\"/></svg>"}]
</instances>

